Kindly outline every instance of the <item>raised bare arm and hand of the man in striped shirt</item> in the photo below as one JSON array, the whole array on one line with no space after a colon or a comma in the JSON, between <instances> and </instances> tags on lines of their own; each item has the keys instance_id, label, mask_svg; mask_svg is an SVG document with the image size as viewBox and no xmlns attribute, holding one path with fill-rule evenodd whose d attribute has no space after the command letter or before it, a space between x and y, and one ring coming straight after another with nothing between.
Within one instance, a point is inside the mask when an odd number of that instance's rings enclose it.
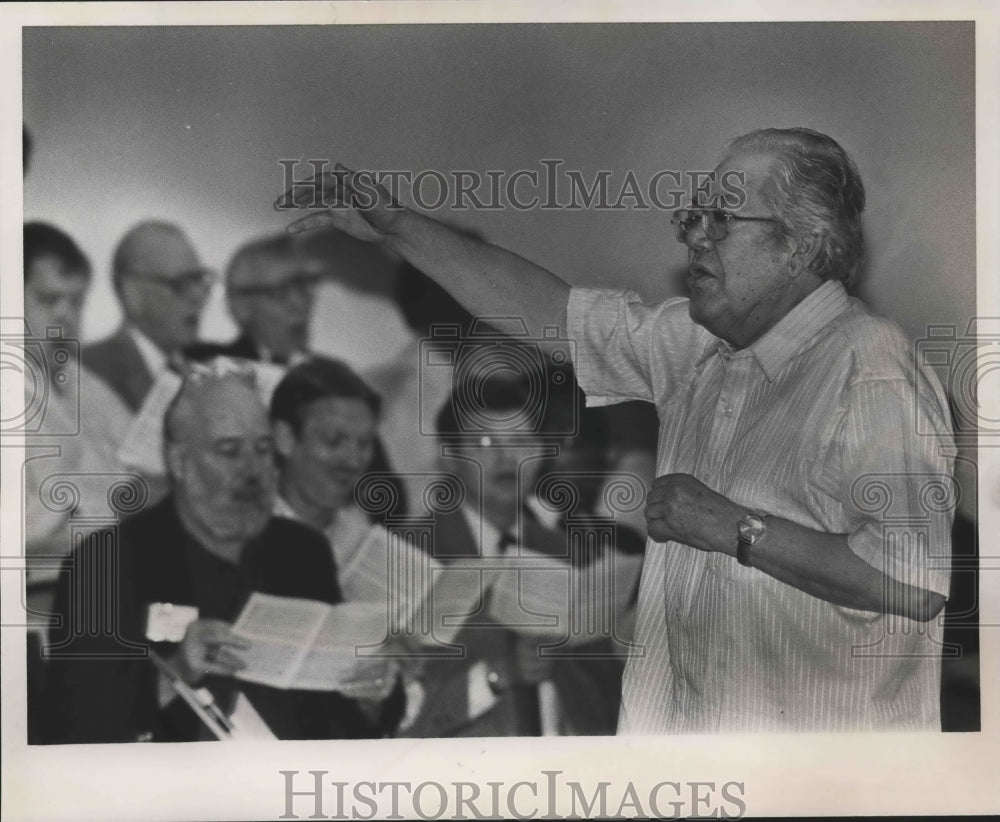
<instances>
[{"instance_id":1,"label":"raised bare arm and hand of the man in striped shirt","mask_svg":"<svg viewBox=\"0 0 1000 822\"><path fill-rule=\"evenodd\" d=\"M553 325L566 333L568 283L513 252L406 208L370 175L338 164L336 171L315 178L312 188L296 185L278 198L275 208L311 212L292 223L290 231L333 227L384 245L474 315L521 317L533 336Z\"/></svg>"}]
</instances>

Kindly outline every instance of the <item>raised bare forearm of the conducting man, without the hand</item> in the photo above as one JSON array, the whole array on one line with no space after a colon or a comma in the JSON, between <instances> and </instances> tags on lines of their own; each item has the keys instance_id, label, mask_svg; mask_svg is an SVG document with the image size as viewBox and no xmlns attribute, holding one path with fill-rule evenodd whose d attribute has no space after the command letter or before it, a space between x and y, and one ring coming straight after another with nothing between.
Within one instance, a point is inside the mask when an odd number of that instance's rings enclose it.
<instances>
[{"instance_id":1,"label":"raised bare forearm of the conducting man, without the hand","mask_svg":"<svg viewBox=\"0 0 1000 822\"><path fill-rule=\"evenodd\" d=\"M546 326L566 333L569 284L511 251L410 209L393 219L385 245L476 316L523 318L532 336Z\"/></svg>"}]
</instances>

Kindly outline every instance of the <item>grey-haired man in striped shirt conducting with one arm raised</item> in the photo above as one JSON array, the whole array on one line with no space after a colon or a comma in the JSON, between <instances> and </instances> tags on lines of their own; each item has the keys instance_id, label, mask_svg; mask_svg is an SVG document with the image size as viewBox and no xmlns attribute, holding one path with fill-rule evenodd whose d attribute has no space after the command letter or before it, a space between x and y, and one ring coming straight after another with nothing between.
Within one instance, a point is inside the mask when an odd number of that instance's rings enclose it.
<instances>
[{"instance_id":1,"label":"grey-haired man in striped shirt conducting with one arm raised","mask_svg":"<svg viewBox=\"0 0 1000 822\"><path fill-rule=\"evenodd\" d=\"M353 206L296 227L382 242L474 313L557 323L590 402L656 403L645 651L619 733L940 729L947 404L900 330L847 294L860 175L831 138L768 129L730 144L715 183L674 215L690 298L658 305L571 288L339 167L277 206L317 191Z\"/></svg>"}]
</instances>

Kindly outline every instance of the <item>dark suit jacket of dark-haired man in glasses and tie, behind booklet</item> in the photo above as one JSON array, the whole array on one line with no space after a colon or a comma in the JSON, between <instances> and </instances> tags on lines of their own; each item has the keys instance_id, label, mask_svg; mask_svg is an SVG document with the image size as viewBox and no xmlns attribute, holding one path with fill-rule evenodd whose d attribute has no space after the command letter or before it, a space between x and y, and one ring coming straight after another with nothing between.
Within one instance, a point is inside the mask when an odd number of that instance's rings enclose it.
<instances>
[{"instance_id":1,"label":"dark suit jacket of dark-haired man in glasses and tie, behind booklet","mask_svg":"<svg viewBox=\"0 0 1000 822\"><path fill-rule=\"evenodd\" d=\"M540 525L530 515L523 518L523 543L535 551L568 558L562 531ZM433 556L442 564L475 556L476 540L461 511L435 520ZM489 593L486 594L489 596ZM515 686L498 694L498 702L485 714L468 719L467 677L479 661L491 667L509 665L516 634L490 622L484 613L475 616L482 626L462 628L454 642L465 653L462 658L428 661L420 681L425 698L417 720L405 733L409 737L442 736L532 736L538 734L537 702L533 686ZM560 708L577 733L613 734L618 719L622 663L595 658L597 649L586 648L581 656L561 658L552 665L552 681ZM589 655L588 655L589 654Z\"/></svg>"}]
</instances>

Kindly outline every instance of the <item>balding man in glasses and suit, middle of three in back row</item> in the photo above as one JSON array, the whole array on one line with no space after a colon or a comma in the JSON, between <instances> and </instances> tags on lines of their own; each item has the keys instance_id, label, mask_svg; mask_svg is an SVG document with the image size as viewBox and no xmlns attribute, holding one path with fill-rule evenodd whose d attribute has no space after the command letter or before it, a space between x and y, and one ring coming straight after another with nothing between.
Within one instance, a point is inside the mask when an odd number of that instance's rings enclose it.
<instances>
[{"instance_id":1,"label":"balding man in glasses and suit, middle of three in back row","mask_svg":"<svg viewBox=\"0 0 1000 822\"><path fill-rule=\"evenodd\" d=\"M157 376L178 368L215 276L176 225L139 223L122 238L112 283L124 321L110 337L83 349L83 362L138 412Z\"/></svg>"}]
</instances>

